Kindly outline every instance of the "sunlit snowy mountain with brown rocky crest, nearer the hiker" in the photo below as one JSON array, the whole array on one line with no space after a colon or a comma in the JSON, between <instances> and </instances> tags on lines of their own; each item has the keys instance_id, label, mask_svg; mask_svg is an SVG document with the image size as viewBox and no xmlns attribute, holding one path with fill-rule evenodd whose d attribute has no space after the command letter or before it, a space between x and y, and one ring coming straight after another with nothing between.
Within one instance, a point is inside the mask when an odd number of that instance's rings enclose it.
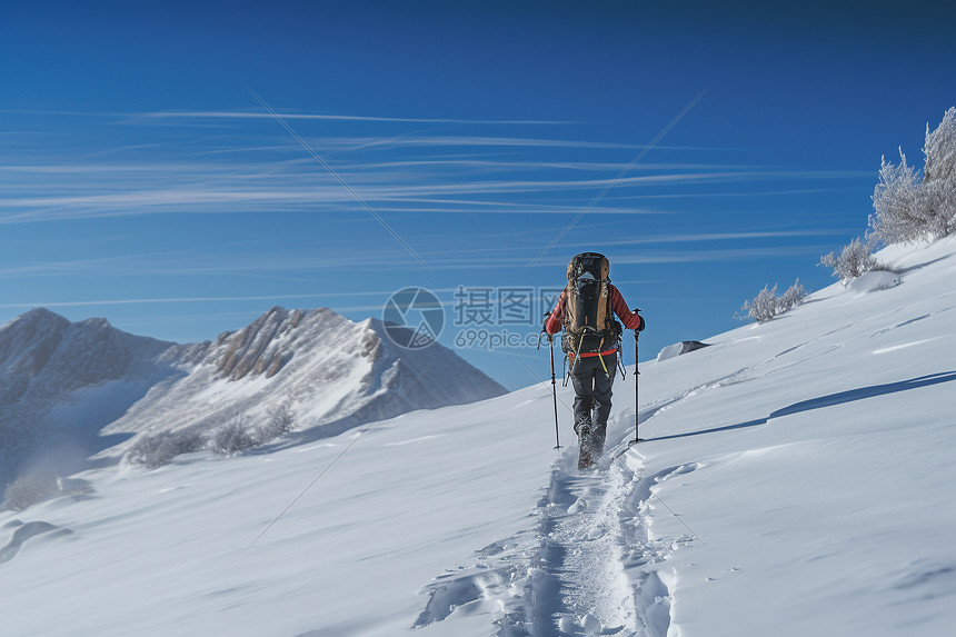
<instances>
[{"instance_id":1,"label":"sunlit snowy mountain with brown rocky crest, nearer the hiker","mask_svg":"<svg viewBox=\"0 0 956 637\"><path fill-rule=\"evenodd\" d=\"M316 438L505 392L439 344L402 349L378 319L356 324L328 309L273 308L213 342L170 348L159 361L185 376L157 384L106 432L209 430L237 412L265 420L282 404L299 414L303 436Z\"/></svg>"}]
</instances>

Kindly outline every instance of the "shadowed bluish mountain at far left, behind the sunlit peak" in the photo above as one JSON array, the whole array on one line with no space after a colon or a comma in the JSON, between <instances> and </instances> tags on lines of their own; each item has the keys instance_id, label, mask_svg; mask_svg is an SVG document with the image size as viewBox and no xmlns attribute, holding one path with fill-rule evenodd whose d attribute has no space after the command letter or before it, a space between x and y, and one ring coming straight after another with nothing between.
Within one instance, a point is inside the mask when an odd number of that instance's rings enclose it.
<instances>
[{"instance_id":1,"label":"shadowed bluish mountain at far left, behind the sunlit peak","mask_svg":"<svg viewBox=\"0 0 956 637\"><path fill-rule=\"evenodd\" d=\"M0 326L0 484L42 448L81 459L118 441L100 429L170 374L155 359L172 345L46 309Z\"/></svg>"}]
</instances>

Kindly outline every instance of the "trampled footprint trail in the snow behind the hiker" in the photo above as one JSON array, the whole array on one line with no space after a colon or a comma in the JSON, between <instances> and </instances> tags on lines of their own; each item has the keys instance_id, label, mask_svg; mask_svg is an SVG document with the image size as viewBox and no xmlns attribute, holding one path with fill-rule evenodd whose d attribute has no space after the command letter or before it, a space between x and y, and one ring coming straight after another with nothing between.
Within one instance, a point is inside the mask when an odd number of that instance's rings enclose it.
<instances>
[{"instance_id":1,"label":"trampled footprint trail in the snow behind the hiker","mask_svg":"<svg viewBox=\"0 0 956 637\"><path fill-rule=\"evenodd\" d=\"M470 567L436 578L412 627L484 613L501 637L665 637L670 596L656 565L676 544L650 536L649 486L694 468L641 478L639 455L625 445L609 449L589 471L578 471L577 449L567 449L535 509L535 528L485 547Z\"/></svg>"}]
</instances>

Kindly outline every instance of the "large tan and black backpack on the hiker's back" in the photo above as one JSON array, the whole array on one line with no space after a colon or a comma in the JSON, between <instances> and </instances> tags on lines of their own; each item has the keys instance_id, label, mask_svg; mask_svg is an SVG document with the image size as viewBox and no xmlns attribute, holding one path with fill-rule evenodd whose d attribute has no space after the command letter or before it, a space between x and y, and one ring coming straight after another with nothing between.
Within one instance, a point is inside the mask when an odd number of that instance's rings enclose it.
<instances>
[{"instance_id":1,"label":"large tan and black backpack on the hiker's back","mask_svg":"<svg viewBox=\"0 0 956 637\"><path fill-rule=\"evenodd\" d=\"M561 349L567 354L604 351L617 347L621 326L610 305L607 257L582 252L568 263Z\"/></svg>"}]
</instances>

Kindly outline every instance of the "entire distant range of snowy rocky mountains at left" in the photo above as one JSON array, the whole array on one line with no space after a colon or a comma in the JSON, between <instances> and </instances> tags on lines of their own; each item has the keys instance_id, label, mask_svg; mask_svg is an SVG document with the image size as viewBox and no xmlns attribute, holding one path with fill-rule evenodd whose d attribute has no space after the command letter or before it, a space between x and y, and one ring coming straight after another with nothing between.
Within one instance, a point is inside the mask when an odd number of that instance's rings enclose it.
<instances>
[{"instance_id":1,"label":"entire distant range of snowy rocky mountains at left","mask_svg":"<svg viewBox=\"0 0 956 637\"><path fill-rule=\"evenodd\" d=\"M381 321L329 309L272 308L193 345L34 309L0 327L0 486L50 448L68 449L67 465L112 461L143 437L255 425L277 407L295 414L296 439L313 439L505 392L437 342L399 348Z\"/></svg>"}]
</instances>

